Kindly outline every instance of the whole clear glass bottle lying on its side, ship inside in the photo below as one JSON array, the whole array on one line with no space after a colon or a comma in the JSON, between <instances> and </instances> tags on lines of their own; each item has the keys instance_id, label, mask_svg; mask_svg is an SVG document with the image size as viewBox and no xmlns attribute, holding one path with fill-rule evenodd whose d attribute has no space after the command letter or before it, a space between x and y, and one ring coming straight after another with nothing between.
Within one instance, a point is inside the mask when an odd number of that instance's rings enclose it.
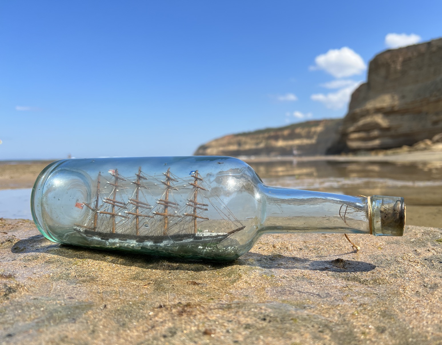
<instances>
[{"instance_id":1,"label":"whole clear glass bottle lying on its side, ship inside","mask_svg":"<svg viewBox=\"0 0 442 345\"><path fill-rule=\"evenodd\" d=\"M65 159L35 181L38 230L58 243L230 261L268 233L402 236L404 199L263 184L232 157Z\"/></svg>"}]
</instances>

